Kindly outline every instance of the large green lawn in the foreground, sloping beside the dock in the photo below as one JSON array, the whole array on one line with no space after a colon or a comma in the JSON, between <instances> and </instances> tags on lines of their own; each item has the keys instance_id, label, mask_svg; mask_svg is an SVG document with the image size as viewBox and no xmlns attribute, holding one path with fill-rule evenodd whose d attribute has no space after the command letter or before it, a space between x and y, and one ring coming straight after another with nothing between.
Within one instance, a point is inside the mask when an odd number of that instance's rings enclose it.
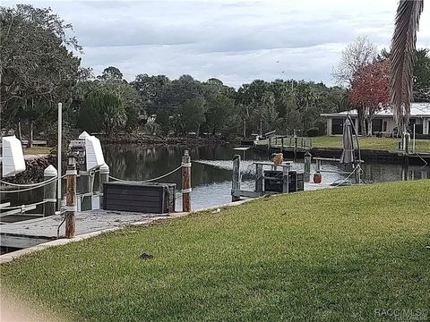
<instances>
[{"instance_id":1,"label":"large green lawn in the foreground, sloping beside the dock","mask_svg":"<svg viewBox=\"0 0 430 322\"><path fill-rule=\"evenodd\" d=\"M43 250L2 284L77 321L430 314L429 195L423 180L258 199Z\"/></svg>"}]
</instances>

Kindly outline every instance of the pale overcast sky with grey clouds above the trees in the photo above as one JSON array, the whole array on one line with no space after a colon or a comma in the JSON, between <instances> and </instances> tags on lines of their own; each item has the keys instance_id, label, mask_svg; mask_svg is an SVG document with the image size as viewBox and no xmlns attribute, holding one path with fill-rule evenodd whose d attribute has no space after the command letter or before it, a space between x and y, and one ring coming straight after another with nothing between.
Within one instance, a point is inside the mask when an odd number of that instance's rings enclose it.
<instances>
[{"instance_id":1,"label":"pale overcast sky with grey clouds above the trees","mask_svg":"<svg viewBox=\"0 0 430 322\"><path fill-rule=\"evenodd\" d=\"M29 1L73 24L82 65L138 73L219 78L238 87L254 79L332 84L331 68L357 36L389 47L396 0ZM16 2L2 1L2 5ZM430 6L418 47L430 47Z\"/></svg>"}]
</instances>

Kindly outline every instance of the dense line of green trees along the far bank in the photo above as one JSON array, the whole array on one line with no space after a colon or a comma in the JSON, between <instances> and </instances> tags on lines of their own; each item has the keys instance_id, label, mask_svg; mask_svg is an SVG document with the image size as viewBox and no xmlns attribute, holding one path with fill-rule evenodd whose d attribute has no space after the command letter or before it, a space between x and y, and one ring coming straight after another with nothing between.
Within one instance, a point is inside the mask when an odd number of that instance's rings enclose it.
<instances>
[{"instance_id":1,"label":"dense line of green trees along the far bank","mask_svg":"<svg viewBox=\"0 0 430 322\"><path fill-rule=\"evenodd\" d=\"M0 13L1 125L20 138L27 133L29 145L33 132L56 140L58 102L63 102L65 135L70 138L82 130L110 137L129 132L249 137L273 130L323 135L326 123L320 114L354 106L366 114L361 107L374 106L374 100L360 101L369 80L362 71L390 55L385 51L378 58L372 44L357 39L342 53L333 71L339 86L332 87L306 80L254 80L235 89L215 78L201 81L191 75L171 80L166 75L138 74L127 81L115 66L97 76L83 68L77 56L82 47L67 36L72 25L50 9L18 4L1 7ZM427 54L428 49L419 51L423 63L418 65L423 67L416 70L423 99L430 74ZM367 70L372 74L373 67ZM364 84L364 89L357 90L357 84Z\"/></svg>"}]
</instances>

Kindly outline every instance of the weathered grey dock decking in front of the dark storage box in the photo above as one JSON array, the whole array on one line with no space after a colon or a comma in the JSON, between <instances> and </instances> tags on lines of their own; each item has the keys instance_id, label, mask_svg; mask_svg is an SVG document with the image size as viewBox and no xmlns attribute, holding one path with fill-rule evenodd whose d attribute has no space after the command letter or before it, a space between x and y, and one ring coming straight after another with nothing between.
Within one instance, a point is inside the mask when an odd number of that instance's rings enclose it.
<instances>
[{"instance_id":1,"label":"weathered grey dock decking in front of the dark storage box","mask_svg":"<svg viewBox=\"0 0 430 322\"><path fill-rule=\"evenodd\" d=\"M167 218L174 214L141 214L125 211L90 210L76 213L76 235L99 232L112 228L145 225ZM25 249L57 239L58 226L63 216L47 216L0 225L0 244L2 247ZM64 224L60 228L60 238L64 238Z\"/></svg>"}]
</instances>

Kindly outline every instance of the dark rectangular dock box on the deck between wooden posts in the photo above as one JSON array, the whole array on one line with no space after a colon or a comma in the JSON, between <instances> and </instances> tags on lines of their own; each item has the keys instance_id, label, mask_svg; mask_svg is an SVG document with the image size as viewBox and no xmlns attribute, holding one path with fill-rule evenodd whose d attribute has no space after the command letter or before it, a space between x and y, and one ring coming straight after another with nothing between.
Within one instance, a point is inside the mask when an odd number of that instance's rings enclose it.
<instances>
[{"instance_id":1,"label":"dark rectangular dock box on the deck between wooden posts","mask_svg":"<svg viewBox=\"0 0 430 322\"><path fill-rule=\"evenodd\" d=\"M107 182L103 184L103 209L145 214L175 211L175 183Z\"/></svg>"}]
</instances>

